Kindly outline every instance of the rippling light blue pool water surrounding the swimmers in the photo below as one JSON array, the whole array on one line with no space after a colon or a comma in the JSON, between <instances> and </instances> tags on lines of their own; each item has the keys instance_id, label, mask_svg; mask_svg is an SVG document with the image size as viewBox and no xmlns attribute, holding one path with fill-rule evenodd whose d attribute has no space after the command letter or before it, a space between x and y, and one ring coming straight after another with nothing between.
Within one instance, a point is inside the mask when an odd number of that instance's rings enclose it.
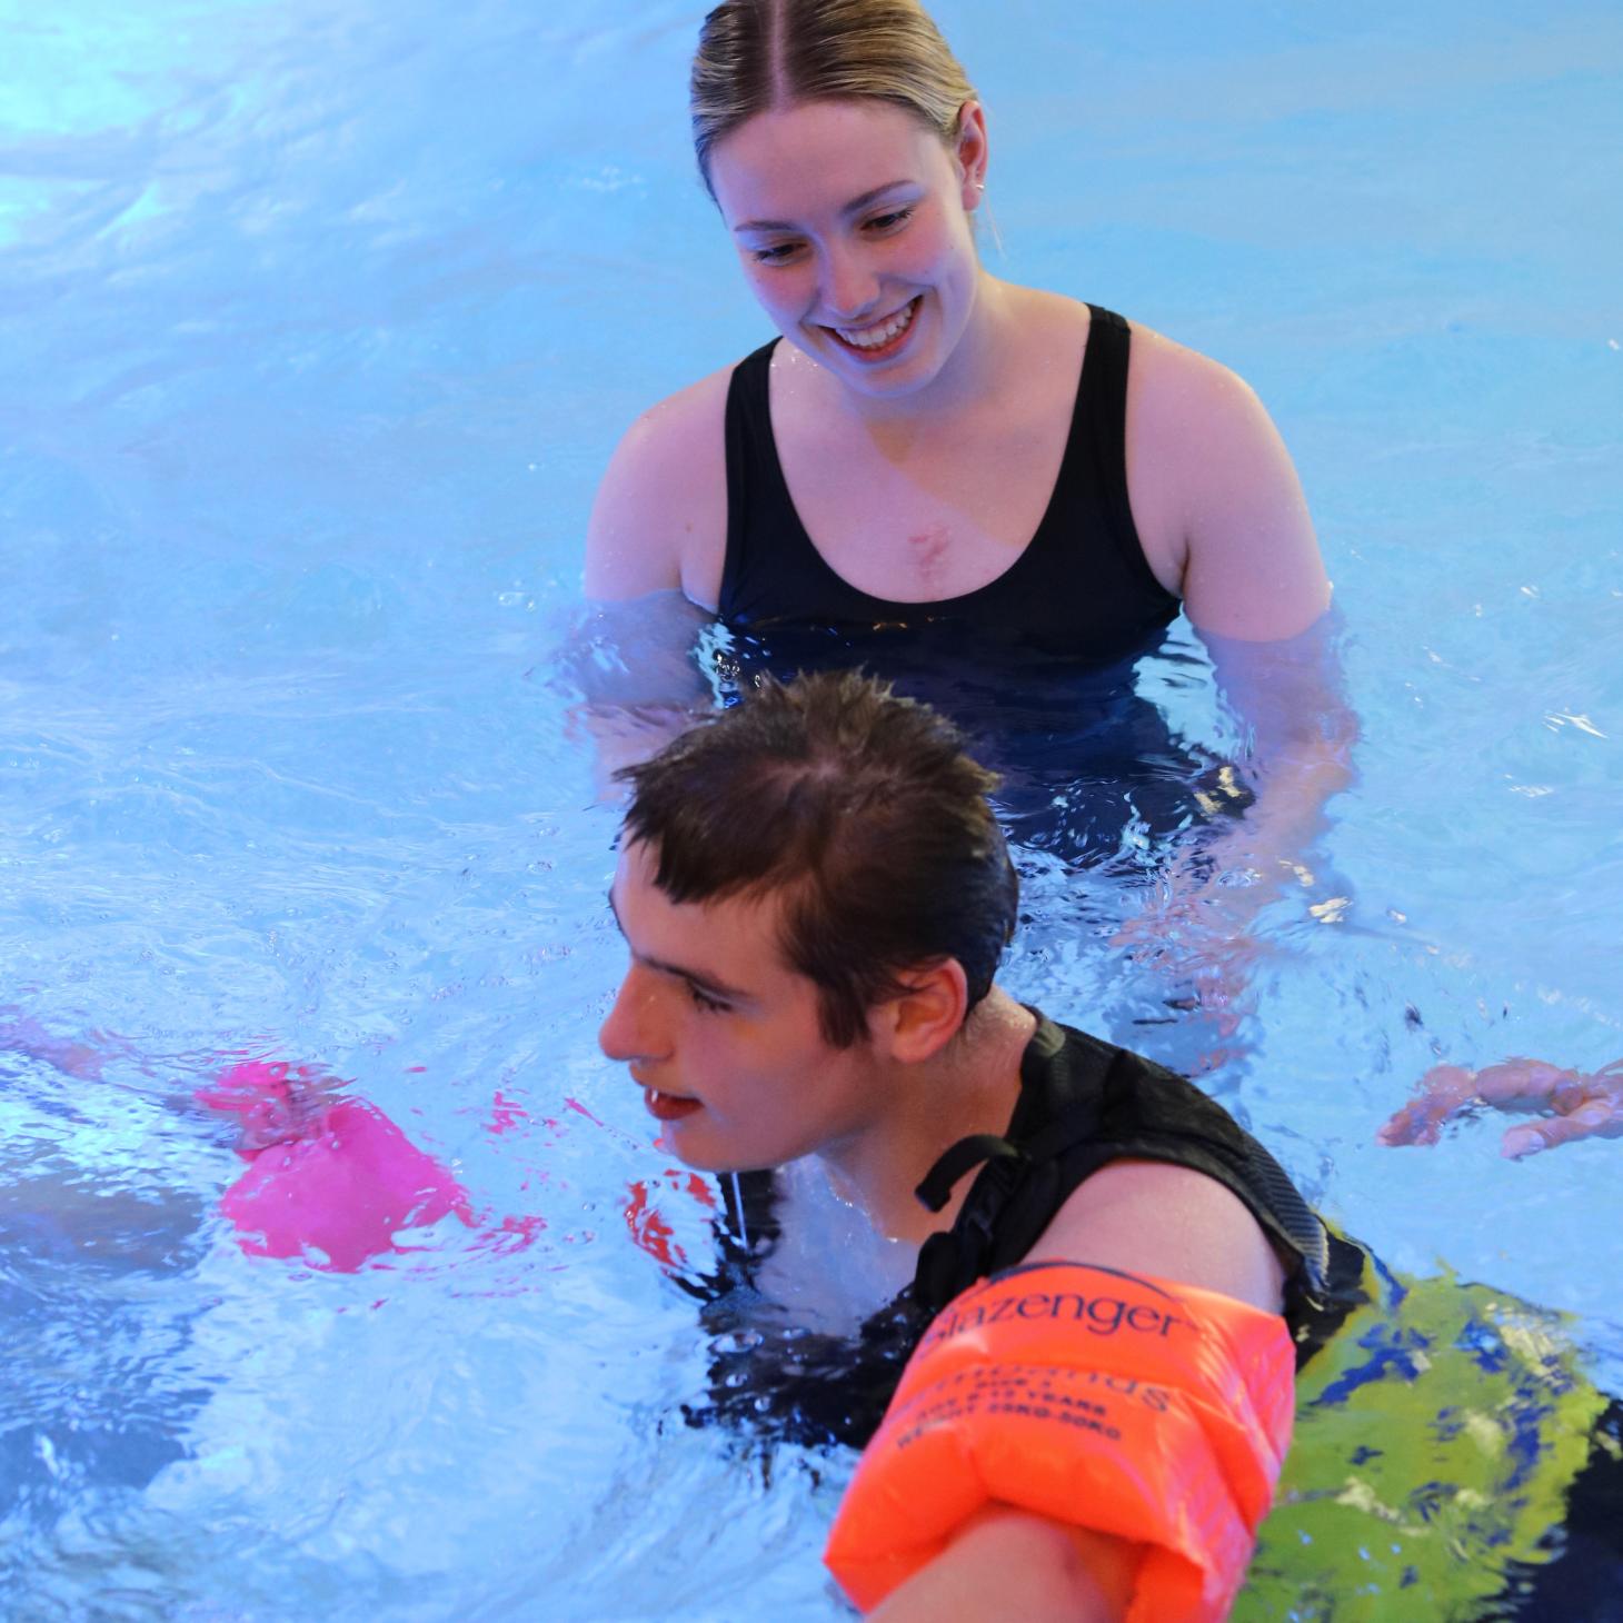
<instances>
[{"instance_id":1,"label":"rippling light blue pool water surrounding the swimmers","mask_svg":"<svg viewBox=\"0 0 1623 1623\"><path fill-rule=\"evenodd\" d=\"M1216 1086L1391 1268L1569 1315L1620 1393L1623 1144L1373 1134L1436 1057L1623 1053L1623 19L938 15L993 268L1256 385L1349 626L1358 781ZM0 1005L109 1055L0 1045L8 1618L839 1615L849 1461L680 1420L711 1349L623 1212L690 1251L703 1212L596 1052L613 820L555 654L613 440L764 338L691 177L698 16L0 11ZM1143 674L1196 735L1201 669ZM1154 1001L1105 940L1138 893L1027 868L1011 988ZM273 1044L531 1243L243 1258L187 1096Z\"/></svg>"}]
</instances>

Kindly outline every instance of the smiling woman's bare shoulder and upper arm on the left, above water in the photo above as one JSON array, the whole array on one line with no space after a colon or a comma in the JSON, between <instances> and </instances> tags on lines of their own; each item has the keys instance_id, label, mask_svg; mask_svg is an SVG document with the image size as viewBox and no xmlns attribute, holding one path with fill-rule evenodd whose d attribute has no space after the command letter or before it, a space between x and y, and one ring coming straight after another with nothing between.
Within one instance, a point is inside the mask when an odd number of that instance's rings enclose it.
<instances>
[{"instance_id":1,"label":"smiling woman's bare shoulder and upper arm on the left, above water","mask_svg":"<svg viewBox=\"0 0 1623 1623\"><path fill-rule=\"evenodd\" d=\"M651 406L609 461L586 527L586 596L682 589L716 607L727 545L732 367Z\"/></svg>"}]
</instances>

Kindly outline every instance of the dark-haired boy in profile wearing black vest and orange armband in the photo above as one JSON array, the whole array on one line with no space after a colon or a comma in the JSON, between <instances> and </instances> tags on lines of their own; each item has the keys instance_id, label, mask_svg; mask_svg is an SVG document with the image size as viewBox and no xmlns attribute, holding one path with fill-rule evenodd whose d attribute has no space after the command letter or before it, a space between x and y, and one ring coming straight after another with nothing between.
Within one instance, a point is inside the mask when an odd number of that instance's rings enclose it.
<instances>
[{"instance_id":1,"label":"dark-haired boy in profile wearing black vest and orange armband","mask_svg":"<svg viewBox=\"0 0 1623 1623\"><path fill-rule=\"evenodd\" d=\"M1018 881L990 774L925 706L768 683L622 776L604 1052L688 1165L815 1157L919 1246L917 1352L831 1540L847 1592L1225 1615L1324 1227L1183 1078L993 984Z\"/></svg>"}]
</instances>

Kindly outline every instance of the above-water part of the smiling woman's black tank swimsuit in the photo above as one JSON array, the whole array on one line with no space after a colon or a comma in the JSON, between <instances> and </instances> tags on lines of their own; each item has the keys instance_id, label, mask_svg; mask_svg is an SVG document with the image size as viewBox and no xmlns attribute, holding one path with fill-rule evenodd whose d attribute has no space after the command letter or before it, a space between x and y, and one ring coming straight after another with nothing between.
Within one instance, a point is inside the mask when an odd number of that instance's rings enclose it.
<instances>
[{"instance_id":1,"label":"above-water part of the smiling woman's black tank swimsuit","mask_svg":"<svg viewBox=\"0 0 1623 1623\"><path fill-rule=\"evenodd\" d=\"M768 406L773 349L738 362L727 390L727 562L719 613L734 631L776 625L894 626L951 622L1053 654L1112 664L1139 652L1178 612L1154 576L1126 492L1131 329L1096 305L1053 495L1026 550L993 581L940 602L857 591L795 513Z\"/></svg>"}]
</instances>

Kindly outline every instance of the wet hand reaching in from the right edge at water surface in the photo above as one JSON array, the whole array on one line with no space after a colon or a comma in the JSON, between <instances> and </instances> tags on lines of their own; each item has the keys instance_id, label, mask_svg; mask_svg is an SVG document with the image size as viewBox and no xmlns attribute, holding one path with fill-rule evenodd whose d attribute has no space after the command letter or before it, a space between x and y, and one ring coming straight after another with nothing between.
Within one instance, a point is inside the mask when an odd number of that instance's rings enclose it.
<instances>
[{"instance_id":1,"label":"wet hand reaching in from the right edge at water surface","mask_svg":"<svg viewBox=\"0 0 1623 1623\"><path fill-rule=\"evenodd\" d=\"M1483 1107L1537 1115L1508 1128L1500 1152L1511 1160L1579 1138L1623 1138L1623 1060L1599 1071L1563 1071L1543 1060L1503 1060L1482 1071L1433 1065L1420 1091L1381 1130L1383 1144L1435 1144L1448 1121Z\"/></svg>"}]
</instances>

